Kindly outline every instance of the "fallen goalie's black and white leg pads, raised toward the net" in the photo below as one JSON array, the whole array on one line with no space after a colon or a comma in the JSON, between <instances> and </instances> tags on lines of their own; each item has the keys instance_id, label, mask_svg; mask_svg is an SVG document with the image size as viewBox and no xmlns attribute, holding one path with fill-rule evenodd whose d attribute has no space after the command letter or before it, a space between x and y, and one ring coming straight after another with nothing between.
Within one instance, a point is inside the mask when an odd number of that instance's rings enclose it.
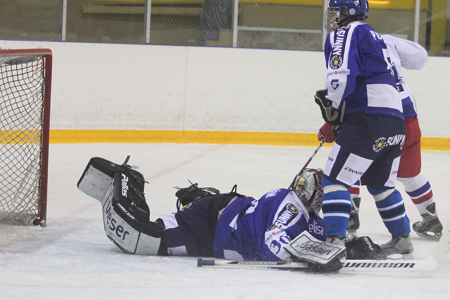
<instances>
[{"instance_id":1,"label":"fallen goalie's black and white leg pads, raised toward the net","mask_svg":"<svg viewBox=\"0 0 450 300\"><path fill-rule=\"evenodd\" d=\"M150 221L142 174L126 164L92 157L77 186L102 205L106 236L130 254L157 255L164 227Z\"/></svg>"}]
</instances>

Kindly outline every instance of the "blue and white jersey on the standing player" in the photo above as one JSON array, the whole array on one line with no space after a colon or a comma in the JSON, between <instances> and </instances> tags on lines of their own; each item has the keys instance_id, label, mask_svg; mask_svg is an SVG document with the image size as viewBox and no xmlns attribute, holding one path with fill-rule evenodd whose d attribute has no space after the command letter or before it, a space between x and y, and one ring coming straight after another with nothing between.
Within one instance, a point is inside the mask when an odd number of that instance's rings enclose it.
<instances>
[{"instance_id":1,"label":"blue and white jersey on the standing player","mask_svg":"<svg viewBox=\"0 0 450 300\"><path fill-rule=\"evenodd\" d=\"M368 24L354 21L325 41L326 97L342 115L362 112L403 119L401 98L391 71L389 51Z\"/></svg>"}]
</instances>

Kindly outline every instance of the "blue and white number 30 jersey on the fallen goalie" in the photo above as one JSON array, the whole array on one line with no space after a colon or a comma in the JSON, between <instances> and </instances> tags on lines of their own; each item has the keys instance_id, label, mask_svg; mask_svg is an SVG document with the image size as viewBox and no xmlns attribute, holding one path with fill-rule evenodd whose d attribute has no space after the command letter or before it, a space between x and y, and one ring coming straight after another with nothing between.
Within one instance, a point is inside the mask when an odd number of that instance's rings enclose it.
<instances>
[{"instance_id":1,"label":"blue and white number 30 jersey on the fallen goalie","mask_svg":"<svg viewBox=\"0 0 450 300\"><path fill-rule=\"evenodd\" d=\"M259 200L237 198L220 215L214 232L213 250L218 258L288 261L284 249L307 230L325 240L323 219L308 213L289 189L275 189Z\"/></svg>"}]
</instances>

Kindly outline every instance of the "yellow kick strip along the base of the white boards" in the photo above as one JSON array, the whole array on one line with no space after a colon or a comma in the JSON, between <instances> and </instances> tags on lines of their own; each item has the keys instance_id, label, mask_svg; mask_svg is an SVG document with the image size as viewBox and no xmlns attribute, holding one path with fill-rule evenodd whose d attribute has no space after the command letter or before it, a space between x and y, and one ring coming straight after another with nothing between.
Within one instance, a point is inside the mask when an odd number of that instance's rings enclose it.
<instances>
[{"instance_id":1,"label":"yellow kick strip along the base of the white boards","mask_svg":"<svg viewBox=\"0 0 450 300\"><path fill-rule=\"evenodd\" d=\"M201 130L52 129L50 143L214 143L317 146L316 133ZM325 143L324 145L331 145ZM450 150L450 138L422 137L421 148Z\"/></svg>"}]
</instances>

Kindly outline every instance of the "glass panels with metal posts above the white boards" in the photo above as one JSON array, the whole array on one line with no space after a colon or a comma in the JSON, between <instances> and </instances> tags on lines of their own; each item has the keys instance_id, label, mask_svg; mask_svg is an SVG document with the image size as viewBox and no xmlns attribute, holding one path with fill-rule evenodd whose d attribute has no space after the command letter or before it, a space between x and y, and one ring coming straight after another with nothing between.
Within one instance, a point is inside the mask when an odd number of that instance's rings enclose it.
<instances>
[{"instance_id":1,"label":"glass panels with metal posts above the white boards","mask_svg":"<svg viewBox=\"0 0 450 300\"><path fill-rule=\"evenodd\" d=\"M320 50L328 0L0 0L0 38ZM369 0L380 33L450 52L450 0Z\"/></svg>"}]
</instances>

